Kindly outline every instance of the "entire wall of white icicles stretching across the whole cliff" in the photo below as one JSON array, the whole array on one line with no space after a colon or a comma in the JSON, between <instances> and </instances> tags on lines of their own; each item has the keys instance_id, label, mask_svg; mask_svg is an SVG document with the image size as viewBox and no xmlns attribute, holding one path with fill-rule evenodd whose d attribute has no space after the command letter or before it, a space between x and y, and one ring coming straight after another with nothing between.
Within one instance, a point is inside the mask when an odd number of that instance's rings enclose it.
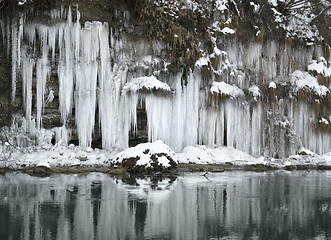
<instances>
[{"instance_id":1,"label":"entire wall of white icicles stretching across the whole cliff","mask_svg":"<svg viewBox=\"0 0 331 240\"><path fill-rule=\"evenodd\" d=\"M130 42L106 23L81 26L80 13L75 16L73 21L71 10L62 8L52 11L57 21L51 25L22 18L3 28L3 35L7 31L11 36L12 95L15 98L21 80L24 126L39 142L50 141L49 135L40 134L44 108L58 97L62 125L53 129L56 141L68 143L77 132L82 147L92 145L96 121L104 148L127 147L130 131L137 130L137 107L143 103L148 140L161 139L175 151L195 144L226 145L272 157L295 153L300 146L317 153L330 150L330 133L317 125L331 119L326 111L314 110L315 102L330 93L311 75L321 72L319 63L312 61L323 55L319 47L233 40L220 51L215 41L215 52L204 54L194 69L160 74L162 64L148 59L161 58L162 46ZM328 61L323 63L327 74ZM163 67L166 70L166 64ZM304 72L307 67L309 73ZM302 75L290 75L295 70ZM309 84L299 87L301 80L295 77L305 76L314 80L312 89ZM302 91L308 92L307 98L316 91L323 94L311 101L302 99ZM70 124L73 116L76 127Z\"/></svg>"}]
</instances>

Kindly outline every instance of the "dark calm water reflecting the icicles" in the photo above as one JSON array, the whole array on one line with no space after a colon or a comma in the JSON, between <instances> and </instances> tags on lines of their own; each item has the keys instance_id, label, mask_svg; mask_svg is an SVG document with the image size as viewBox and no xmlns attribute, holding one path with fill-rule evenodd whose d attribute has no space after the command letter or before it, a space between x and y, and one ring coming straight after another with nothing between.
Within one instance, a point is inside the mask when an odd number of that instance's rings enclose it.
<instances>
[{"instance_id":1,"label":"dark calm water reflecting the icicles","mask_svg":"<svg viewBox=\"0 0 331 240\"><path fill-rule=\"evenodd\" d=\"M8 173L0 239L331 239L331 173Z\"/></svg>"}]
</instances>

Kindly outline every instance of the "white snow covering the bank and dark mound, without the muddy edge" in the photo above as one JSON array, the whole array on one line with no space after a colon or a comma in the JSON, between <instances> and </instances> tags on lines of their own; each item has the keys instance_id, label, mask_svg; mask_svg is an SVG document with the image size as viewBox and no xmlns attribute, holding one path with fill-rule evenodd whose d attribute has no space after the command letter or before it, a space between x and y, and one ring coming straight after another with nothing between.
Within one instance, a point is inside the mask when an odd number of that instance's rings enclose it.
<instances>
[{"instance_id":1,"label":"white snow covering the bank and dark mound, without the muddy edge","mask_svg":"<svg viewBox=\"0 0 331 240\"><path fill-rule=\"evenodd\" d=\"M22 170L30 167L96 167L96 168L128 168L125 160L134 160L132 167L149 168L162 171L173 168L176 164L219 164L237 167L265 166L287 168L290 166L306 166L318 168L331 167L331 152L318 155L306 149L300 149L297 155L286 159L269 157L254 157L232 147L207 148L206 146L189 146L182 152L175 153L170 147L158 140L153 143L143 143L136 147L125 149L100 150L69 145L45 145L43 147L21 148L13 151L8 158L0 159L0 168ZM123 163L123 164L122 164ZM133 164L133 165L132 165ZM141 171L140 171L141 172Z\"/></svg>"}]
</instances>

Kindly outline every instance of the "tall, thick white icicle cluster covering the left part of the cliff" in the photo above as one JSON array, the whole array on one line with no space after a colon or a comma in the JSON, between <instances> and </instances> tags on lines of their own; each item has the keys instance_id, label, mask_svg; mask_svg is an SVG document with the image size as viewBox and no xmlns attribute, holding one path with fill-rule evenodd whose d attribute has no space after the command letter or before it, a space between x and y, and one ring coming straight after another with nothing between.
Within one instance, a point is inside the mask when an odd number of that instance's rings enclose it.
<instances>
[{"instance_id":1,"label":"tall, thick white icicle cluster covering the left part of the cliff","mask_svg":"<svg viewBox=\"0 0 331 240\"><path fill-rule=\"evenodd\" d=\"M32 94L36 78L35 118L37 129L41 129L46 84L51 74L56 72L59 112L63 123L63 126L55 131L57 140L68 143L69 136L64 133L69 133L66 127L74 107L79 143L86 147L91 146L92 142L98 87L100 123L105 136L103 143L106 147L117 143L125 145L127 137L125 140L121 137L127 134L122 130L128 128L122 128L121 117L125 119L125 114L118 112L123 104L119 99L122 75L114 76L118 66L112 68L110 64L108 25L86 22L82 27L79 16L77 11L77 20L72 22L71 10L62 8L60 11L52 11L51 17L59 20L66 18L64 22L48 26L24 23L22 18L18 32L16 24L12 24L13 98L17 72L21 72L25 119L28 126L33 125L35 120L32 117ZM36 55L39 57L36 58ZM27 131L33 133L34 128L27 127ZM121 131L120 135L118 131Z\"/></svg>"}]
</instances>

